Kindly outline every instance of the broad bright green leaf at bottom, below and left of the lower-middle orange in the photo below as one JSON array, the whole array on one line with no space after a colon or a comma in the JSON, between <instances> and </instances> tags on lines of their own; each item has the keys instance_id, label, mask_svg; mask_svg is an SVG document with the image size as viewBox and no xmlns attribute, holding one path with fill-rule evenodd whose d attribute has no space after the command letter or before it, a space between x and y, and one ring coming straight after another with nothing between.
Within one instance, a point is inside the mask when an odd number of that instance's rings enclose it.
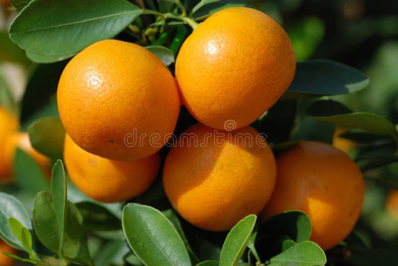
<instances>
[{"instance_id":1,"label":"broad bright green leaf at bottom, below and left of the lower-middle orange","mask_svg":"<svg viewBox=\"0 0 398 266\"><path fill-rule=\"evenodd\" d=\"M183 240L159 210L129 203L123 208L122 226L128 244L145 265L191 265Z\"/></svg>"}]
</instances>

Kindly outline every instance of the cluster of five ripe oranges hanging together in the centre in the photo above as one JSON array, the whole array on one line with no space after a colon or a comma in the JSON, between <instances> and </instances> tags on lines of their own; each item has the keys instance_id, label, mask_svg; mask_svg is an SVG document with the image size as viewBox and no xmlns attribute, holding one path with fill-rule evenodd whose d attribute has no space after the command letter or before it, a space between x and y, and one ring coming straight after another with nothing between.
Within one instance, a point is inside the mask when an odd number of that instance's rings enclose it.
<instances>
[{"instance_id":1,"label":"cluster of five ripe oranges hanging together in the centre","mask_svg":"<svg viewBox=\"0 0 398 266\"><path fill-rule=\"evenodd\" d=\"M311 240L329 249L360 214L365 188L356 164L313 141L276 160L249 126L286 91L295 70L283 28L247 7L201 23L179 52L175 78L138 45L95 43L70 61L58 86L69 176L94 199L130 199L151 185L159 150L172 143L163 184L187 221L222 231L248 214L267 219L300 209L312 221ZM173 139L181 104L199 123Z\"/></svg>"}]
</instances>

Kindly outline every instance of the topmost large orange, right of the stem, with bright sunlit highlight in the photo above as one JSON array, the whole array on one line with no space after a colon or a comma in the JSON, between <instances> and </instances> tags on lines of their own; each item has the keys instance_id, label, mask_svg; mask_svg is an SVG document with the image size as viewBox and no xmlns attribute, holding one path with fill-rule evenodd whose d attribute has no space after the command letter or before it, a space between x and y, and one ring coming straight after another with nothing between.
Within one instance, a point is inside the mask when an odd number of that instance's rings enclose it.
<instances>
[{"instance_id":1,"label":"topmost large orange, right of the stem, with bright sunlit highlight","mask_svg":"<svg viewBox=\"0 0 398 266\"><path fill-rule=\"evenodd\" d=\"M254 122L287 90L296 71L292 42L271 17L222 9L186 39L176 60L183 104L202 124L225 130Z\"/></svg>"}]
</instances>

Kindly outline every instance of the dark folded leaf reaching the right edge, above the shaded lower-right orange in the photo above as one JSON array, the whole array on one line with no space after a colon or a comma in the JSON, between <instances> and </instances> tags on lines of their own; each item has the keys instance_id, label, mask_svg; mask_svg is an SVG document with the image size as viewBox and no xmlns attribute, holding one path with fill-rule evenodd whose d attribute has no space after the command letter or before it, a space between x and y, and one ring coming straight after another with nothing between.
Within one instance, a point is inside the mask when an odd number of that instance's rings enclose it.
<instances>
[{"instance_id":1,"label":"dark folded leaf reaching the right edge, above the shaded lower-right orange","mask_svg":"<svg viewBox=\"0 0 398 266\"><path fill-rule=\"evenodd\" d=\"M313 103L305 111L305 115L344 128L354 128L372 133L389 135L398 143L397 129L395 125L387 119L371 113L354 113L343 104L332 100Z\"/></svg>"}]
</instances>

